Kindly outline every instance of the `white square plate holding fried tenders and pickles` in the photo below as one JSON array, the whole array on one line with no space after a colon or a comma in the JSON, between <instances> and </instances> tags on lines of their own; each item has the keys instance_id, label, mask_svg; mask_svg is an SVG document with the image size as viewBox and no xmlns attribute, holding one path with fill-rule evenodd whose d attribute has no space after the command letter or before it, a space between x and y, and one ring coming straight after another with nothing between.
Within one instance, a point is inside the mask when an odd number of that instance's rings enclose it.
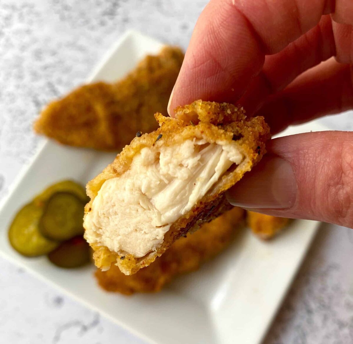
<instances>
[{"instance_id":1,"label":"white square plate holding fried tenders and pickles","mask_svg":"<svg viewBox=\"0 0 353 344\"><path fill-rule=\"evenodd\" d=\"M128 32L88 81L119 79L161 46ZM283 134L320 130L325 128L311 122ZM85 184L114 156L47 140L1 203L0 253L149 343L259 343L316 232L315 221L294 221L271 242L241 231L231 248L196 273L178 277L161 293L131 297L101 290L93 267L59 269L46 257L25 258L11 248L7 228L20 206L58 180Z\"/></svg>"}]
</instances>

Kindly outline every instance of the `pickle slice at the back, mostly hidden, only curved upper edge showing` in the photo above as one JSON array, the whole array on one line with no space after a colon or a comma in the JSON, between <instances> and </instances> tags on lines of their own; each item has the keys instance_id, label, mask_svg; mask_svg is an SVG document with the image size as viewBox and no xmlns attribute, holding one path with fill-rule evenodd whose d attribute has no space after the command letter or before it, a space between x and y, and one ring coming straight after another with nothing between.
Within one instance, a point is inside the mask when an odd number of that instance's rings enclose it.
<instances>
[{"instance_id":1,"label":"pickle slice at the back, mostly hidden, only curved upper edge showing","mask_svg":"<svg viewBox=\"0 0 353 344\"><path fill-rule=\"evenodd\" d=\"M72 180L63 180L49 186L36 196L33 201L38 203L38 205L44 205L44 203L56 192L70 192L76 195L83 203L86 204L89 202L85 188Z\"/></svg>"}]
</instances>

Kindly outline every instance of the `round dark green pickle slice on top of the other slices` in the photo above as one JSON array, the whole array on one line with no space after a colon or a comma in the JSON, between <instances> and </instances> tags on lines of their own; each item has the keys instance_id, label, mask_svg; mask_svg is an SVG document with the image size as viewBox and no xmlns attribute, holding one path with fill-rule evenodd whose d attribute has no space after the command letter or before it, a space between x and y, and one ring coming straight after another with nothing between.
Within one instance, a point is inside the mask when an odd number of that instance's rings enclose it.
<instances>
[{"instance_id":1,"label":"round dark green pickle slice on top of the other slices","mask_svg":"<svg viewBox=\"0 0 353 344\"><path fill-rule=\"evenodd\" d=\"M39 221L41 234L51 240L65 241L83 234L84 203L69 192L56 192L47 201Z\"/></svg>"}]
</instances>

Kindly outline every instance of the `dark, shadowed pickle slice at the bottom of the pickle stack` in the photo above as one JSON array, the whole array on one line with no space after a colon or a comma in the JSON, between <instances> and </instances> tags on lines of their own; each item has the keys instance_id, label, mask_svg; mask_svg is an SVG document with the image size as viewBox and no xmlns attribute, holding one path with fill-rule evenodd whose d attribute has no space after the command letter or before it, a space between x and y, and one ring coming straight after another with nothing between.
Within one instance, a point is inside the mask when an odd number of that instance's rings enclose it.
<instances>
[{"instance_id":1,"label":"dark, shadowed pickle slice at the bottom of the pickle stack","mask_svg":"<svg viewBox=\"0 0 353 344\"><path fill-rule=\"evenodd\" d=\"M61 243L48 254L50 262L60 268L78 268L89 263L90 245L82 236L77 236Z\"/></svg>"}]
</instances>

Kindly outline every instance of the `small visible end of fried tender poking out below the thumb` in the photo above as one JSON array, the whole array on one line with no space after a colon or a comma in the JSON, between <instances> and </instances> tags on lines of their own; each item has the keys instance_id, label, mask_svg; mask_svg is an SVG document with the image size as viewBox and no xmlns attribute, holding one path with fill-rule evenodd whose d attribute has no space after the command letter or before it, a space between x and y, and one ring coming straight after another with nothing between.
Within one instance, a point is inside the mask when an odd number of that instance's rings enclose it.
<instances>
[{"instance_id":1,"label":"small visible end of fried tender poking out below the thumb","mask_svg":"<svg viewBox=\"0 0 353 344\"><path fill-rule=\"evenodd\" d=\"M289 219L284 217L275 217L247 211L247 224L254 234L264 240L273 238L287 226L288 222Z\"/></svg>"}]
</instances>

